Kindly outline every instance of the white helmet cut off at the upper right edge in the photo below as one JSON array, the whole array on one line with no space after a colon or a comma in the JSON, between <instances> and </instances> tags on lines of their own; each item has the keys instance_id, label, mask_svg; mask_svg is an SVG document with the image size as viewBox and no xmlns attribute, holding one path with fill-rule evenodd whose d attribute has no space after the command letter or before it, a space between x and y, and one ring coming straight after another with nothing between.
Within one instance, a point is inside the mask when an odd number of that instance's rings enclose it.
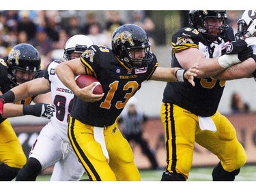
<instances>
[{"instance_id":1,"label":"white helmet cut off at the upper right edge","mask_svg":"<svg viewBox=\"0 0 256 191\"><path fill-rule=\"evenodd\" d=\"M238 20L236 39L256 37L256 10L246 10Z\"/></svg>"}]
</instances>

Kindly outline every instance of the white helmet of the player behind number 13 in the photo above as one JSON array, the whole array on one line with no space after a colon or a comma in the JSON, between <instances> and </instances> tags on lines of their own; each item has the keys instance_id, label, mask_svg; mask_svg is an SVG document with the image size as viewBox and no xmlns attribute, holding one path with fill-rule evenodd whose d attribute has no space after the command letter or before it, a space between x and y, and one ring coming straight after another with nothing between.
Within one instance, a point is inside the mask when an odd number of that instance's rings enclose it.
<instances>
[{"instance_id":1,"label":"white helmet of the player behind number 13","mask_svg":"<svg viewBox=\"0 0 256 191\"><path fill-rule=\"evenodd\" d=\"M73 52L82 54L91 45L94 45L94 42L86 35L74 35L66 42L63 58L66 61L71 60L71 54Z\"/></svg>"}]
</instances>

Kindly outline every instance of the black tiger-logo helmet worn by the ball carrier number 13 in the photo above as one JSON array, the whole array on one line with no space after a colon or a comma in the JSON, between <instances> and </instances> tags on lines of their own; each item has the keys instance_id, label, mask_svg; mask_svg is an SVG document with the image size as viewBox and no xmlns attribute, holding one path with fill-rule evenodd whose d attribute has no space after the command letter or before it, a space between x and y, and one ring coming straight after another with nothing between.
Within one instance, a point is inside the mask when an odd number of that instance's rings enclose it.
<instances>
[{"instance_id":1,"label":"black tiger-logo helmet worn by the ball carrier number 13","mask_svg":"<svg viewBox=\"0 0 256 191\"><path fill-rule=\"evenodd\" d=\"M147 67L147 64L153 60L150 45L147 33L136 24L124 24L115 29L112 35L114 54L129 68ZM130 53L131 49L144 49L145 57L133 58Z\"/></svg>"}]
</instances>

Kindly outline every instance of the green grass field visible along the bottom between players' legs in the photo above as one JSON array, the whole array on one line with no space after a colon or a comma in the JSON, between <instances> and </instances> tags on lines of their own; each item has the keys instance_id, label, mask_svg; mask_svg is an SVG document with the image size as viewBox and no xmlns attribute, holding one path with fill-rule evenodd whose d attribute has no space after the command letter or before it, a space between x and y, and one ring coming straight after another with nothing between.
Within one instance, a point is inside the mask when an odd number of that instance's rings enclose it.
<instances>
[{"instance_id":1,"label":"green grass field visible along the bottom between players' legs","mask_svg":"<svg viewBox=\"0 0 256 191\"><path fill-rule=\"evenodd\" d=\"M193 167L190 171L188 181L212 181L212 169L213 167ZM141 170L141 180L142 181L160 181L162 176L162 170L152 171L152 170ZM83 176L84 179L87 175ZM48 181L50 180L50 175L39 175L37 181ZM246 165L244 166L236 181L256 181L256 165Z\"/></svg>"}]
</instances>

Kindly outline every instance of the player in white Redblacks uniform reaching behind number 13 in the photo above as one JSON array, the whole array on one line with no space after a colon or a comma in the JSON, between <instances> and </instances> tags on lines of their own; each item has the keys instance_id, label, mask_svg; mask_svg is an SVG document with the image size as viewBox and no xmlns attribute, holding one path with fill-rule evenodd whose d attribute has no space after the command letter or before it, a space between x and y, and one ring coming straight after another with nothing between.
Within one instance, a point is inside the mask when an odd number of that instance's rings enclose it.
<instances>
[{"instance_id":1,"label":"player in white Redblacks uniform reaching behind number 13","mask_svg":"<svg viewBox=\"0 0 256 191\"><path fill-rule=\"evenodd\" d=\"M79 58L93 44L91 39L85 35L74 35L66 42L63 58L65 60ZM68 117L72 109L74 93L66 88L55 74L55 67L59 63L61 63L60 60L54 60L47 66L44 77L31 80L10 90L14 101L51 91L56 107L53 118L42 128L31 148L27 163L18 172L16 181L35 181L42 170L53 164L51 181L79 180L85 172L67 137Z\"/></svg>"}]
</instances>

